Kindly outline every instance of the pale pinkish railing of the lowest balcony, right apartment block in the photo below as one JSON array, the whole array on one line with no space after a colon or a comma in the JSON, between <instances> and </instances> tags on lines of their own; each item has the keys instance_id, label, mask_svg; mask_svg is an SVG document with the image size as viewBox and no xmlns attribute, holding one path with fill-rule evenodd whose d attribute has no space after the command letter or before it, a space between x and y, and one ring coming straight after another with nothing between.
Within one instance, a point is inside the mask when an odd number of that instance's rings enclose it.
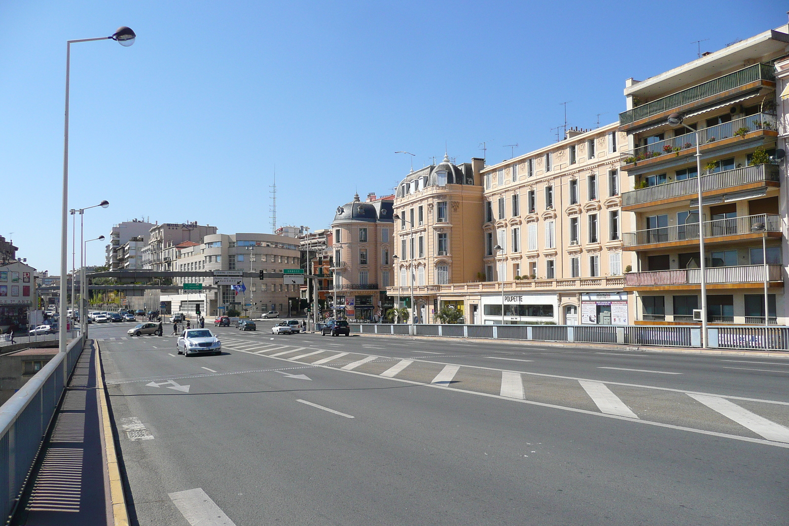
<instances>
[{"instance_id":1,"label":"pale pinkish railing of the lowest balcony, right apartment block","mask_svg":"<svg viewBox=\"0 0 789 526\"><path fill-rule=\"evenodd\" d=\"M768 265L768 281L783 281L781 265ZM739 267L709 267L705 269L706 282L723 283L762 283L765 281L764 265L741 265ZM652 270L625 274L627 287L652 287L661 285L701 285L701 269L686 268L675 270Z\"/></svg>"}]
</instances>

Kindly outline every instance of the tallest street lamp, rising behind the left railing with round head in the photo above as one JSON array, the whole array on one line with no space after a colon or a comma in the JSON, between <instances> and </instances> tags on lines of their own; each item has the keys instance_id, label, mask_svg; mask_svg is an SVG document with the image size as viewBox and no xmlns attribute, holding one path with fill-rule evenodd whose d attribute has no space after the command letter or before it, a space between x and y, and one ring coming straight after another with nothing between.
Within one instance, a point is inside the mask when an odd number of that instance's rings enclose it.
<instances>
[{"instance_id":1,"label":"tallest street lamp, rising behind the left railing with round head","mask_svg":"<svg viewBox=\"0 0 789 526\"><path fill-rule=\"evenodd\" d=\"M65 118L63 125L63 206L61 212L60 229L60 315L66 311L66 294L68 284L65 280L65 273L69 264L69 80L71 75L71 44L78 42L92 42L94 40L112 39L124 47L129 47L134 43L135 33L126 26L118 28L111 36L102 36L97 39L67 40L65 43ZM63 318L61 318L62 322ZM58 330L58 347L61 353L65 353L66 332L64 323L60 323Z\"/></svg>"}]
</instances>

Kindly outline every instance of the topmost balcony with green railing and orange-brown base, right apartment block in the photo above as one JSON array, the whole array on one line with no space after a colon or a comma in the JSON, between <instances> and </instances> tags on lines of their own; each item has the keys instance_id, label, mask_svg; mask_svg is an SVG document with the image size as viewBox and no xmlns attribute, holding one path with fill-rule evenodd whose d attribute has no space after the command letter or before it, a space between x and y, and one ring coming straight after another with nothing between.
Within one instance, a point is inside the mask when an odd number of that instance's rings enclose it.
<instances>
[{"instance_id":1,"label":"topmost balcony with green railing and orange-brown base, right apartment block","mask_svg":"<svg viewBox=\"0 0 789 526\"><path fill-rule=\"evenodd\" d=\"M773 88L774 72L774 66L759 63L647 103L638 104L638 98L634 98L636 106L619 114L619 125L623 128L642 126L666 118L673 111L693 110L761 87Z\"/></svg>"}]
</instances>

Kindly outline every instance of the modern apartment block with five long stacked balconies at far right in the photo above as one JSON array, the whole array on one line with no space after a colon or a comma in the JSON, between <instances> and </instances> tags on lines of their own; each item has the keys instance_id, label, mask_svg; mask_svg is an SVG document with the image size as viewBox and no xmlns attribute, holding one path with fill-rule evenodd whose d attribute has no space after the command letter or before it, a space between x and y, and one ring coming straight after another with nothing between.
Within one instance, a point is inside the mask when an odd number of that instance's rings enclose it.
<instances>
[{"instance_id":1,"label":"modern apartment block with five long stacked balconies at far right","mask_svg":"<svg viewBox=\"0 0 789 526\"><path fill-rule=\"evenodd\" d=\"M621 169L633 188L623 193L622 210L635 215L635 228L623 236L624 250L635 255L625 282L635 296L634 323L693 323L702 233L709 323L765 323L766 280L766 314L785 324L775 64L789 54L787 33L783 26L626 81L619 132L628 141Z\"/></svg>"}]
</instances>

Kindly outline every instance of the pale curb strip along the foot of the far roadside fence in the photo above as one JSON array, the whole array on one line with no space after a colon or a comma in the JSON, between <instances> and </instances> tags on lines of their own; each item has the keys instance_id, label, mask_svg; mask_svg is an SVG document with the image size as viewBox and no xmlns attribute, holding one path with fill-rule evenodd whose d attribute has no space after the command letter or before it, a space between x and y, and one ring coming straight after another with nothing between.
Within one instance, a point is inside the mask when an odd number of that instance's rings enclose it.
<instances>
[{"instance_id":1,"label":"pale curb strip along the foot of the far roadside fence","mask_svg":"<svg viewBox=\"0 0 789 526\"><path fill-rule=\"evenodd\" d=\"M412 339L419 339L419 340L433 340L437 338L447 339L447 340L461 340L461 341L498 341L502 343L510 343L510 344L518 344L518 345L529 345L533 347L556 347L556 348L567 348L567 346L575 346L575 345L584 345L585 347L588 346L589 349L605 349L610 351L626 351L628 353L674 353L674 354L698 354L703 356L764 356L770 358L780 358L783 360L789 360L789 353L786 351L779 352L779 351L748 351L744 349L687 349L685 347L641 347L641 346L633 346L633 345L610 345L610 344L599 344L599 343L580 343L578 341L575 342L567 342L567 341L535 341L535 340L509 340L504 338L496 338L495 340L491 338L454 338L449 336L410 336L408 334L373 334L373 333L351 333L351 334L358 334L359 336L374 336L380 338L412 338Z\"/></svg>"}]
</instances>

